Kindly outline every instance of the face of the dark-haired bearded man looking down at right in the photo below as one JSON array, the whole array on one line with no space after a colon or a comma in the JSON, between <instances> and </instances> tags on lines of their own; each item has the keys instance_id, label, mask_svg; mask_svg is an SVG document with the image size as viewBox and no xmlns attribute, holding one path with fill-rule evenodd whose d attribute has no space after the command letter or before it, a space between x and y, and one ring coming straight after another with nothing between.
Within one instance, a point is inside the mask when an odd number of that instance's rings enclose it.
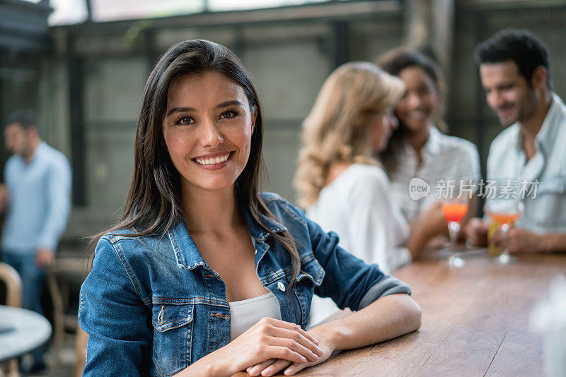
<instances>
[{"instance_id":1,"label":"face of the dark-haired bearded man looking down at right","mask_svg":"<svg viewBox=\"0 0 566 377\"><path fill-rule=\"evenodd\" d=\"M482 64L480 78L487 104L495 111L504 127L529 119L535 112L537 92L521 76L514 61Z\"/></svg>"}]
</instances>

